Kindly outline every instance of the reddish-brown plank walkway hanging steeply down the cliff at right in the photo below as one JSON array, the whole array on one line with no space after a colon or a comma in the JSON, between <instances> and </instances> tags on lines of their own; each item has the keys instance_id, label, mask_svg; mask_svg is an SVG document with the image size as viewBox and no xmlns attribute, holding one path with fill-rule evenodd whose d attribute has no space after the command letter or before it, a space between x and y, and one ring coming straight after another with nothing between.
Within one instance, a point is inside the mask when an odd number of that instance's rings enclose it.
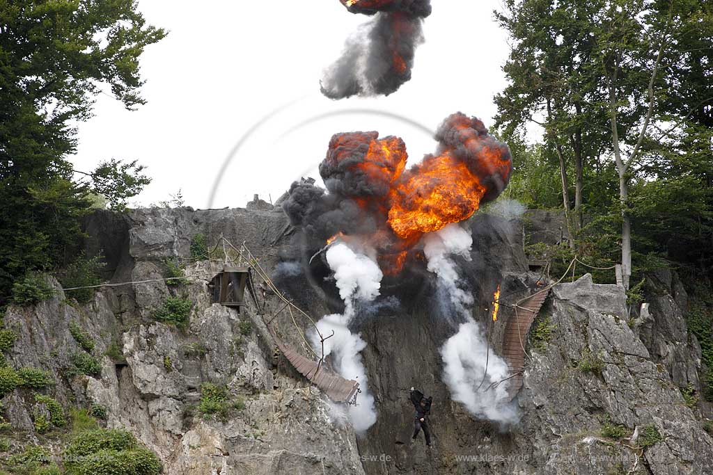
<instances>
[{"instance_id":1,"label":"reddish-brown plank walkway hanging steeply down the cliff at right","mask_svg":"<svg viewBox=\"0 0 713 475\"><path fill-rule=\"evenodd\" d=\"M508 318L503 334L503 358L510 367L512 379L509 380L508 395L513 400L523 387L523 371L525 370L525 345L530 327L540 312L542 304L550 293L549 288L533 293L515 307L513 315Z\"/></svg>"}]
</instances>

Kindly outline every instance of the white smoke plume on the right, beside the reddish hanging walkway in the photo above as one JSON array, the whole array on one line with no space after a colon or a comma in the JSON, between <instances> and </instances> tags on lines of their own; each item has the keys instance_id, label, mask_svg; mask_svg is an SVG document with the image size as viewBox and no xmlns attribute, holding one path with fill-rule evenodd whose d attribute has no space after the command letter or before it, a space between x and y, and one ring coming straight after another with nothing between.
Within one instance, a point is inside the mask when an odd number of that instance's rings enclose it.
<instances>
[{"instance_id":1,"label":"white smoke plume on the right, beside the reddish hanging walkway","mask_svg":"<svg viewBox=\"0 0 713 475\"><path fill-rule=\"evenodd\" d=\"M458 266L451 259L453 255L470 259L472 244L471 235L458 224L448 224L424 236L429 271L436 273L453 306L466 318L458 333L448 338L441 348L443 379L453 400L462 402L471 414L512 423L517 421L518 414L507 400L507 382L491 387L509 376L508 365L488 348L486 335L469 313L473 296L458 286Z\"/></svg>"}]
</instances>

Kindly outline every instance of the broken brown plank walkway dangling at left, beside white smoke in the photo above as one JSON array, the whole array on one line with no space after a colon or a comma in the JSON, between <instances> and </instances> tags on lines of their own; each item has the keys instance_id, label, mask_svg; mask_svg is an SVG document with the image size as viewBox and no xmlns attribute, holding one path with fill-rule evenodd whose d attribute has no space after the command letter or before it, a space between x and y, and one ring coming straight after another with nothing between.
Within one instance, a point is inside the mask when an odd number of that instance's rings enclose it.
<instances>
[{"instance_id":1,"label":"broken brown plank walkway dangling at left, beside white smoke","mask_svg":"<svg viewBox=\"0 0 713 475\"><path fill-rule=\"evenodd\" d=\"M359 393L359 383L354 380L345 380L337 373L327 369L322 363L322 366L317 367L317 361L310 360L297 353L297 351L289 348L282 341L273 335L277 348L282 354L287 357L287 360L294 366L300 374L306 377L309 382L319 387L329 399L334 402L352 403L356 400L356 395Z\"/></svg>"}]
</instances>

